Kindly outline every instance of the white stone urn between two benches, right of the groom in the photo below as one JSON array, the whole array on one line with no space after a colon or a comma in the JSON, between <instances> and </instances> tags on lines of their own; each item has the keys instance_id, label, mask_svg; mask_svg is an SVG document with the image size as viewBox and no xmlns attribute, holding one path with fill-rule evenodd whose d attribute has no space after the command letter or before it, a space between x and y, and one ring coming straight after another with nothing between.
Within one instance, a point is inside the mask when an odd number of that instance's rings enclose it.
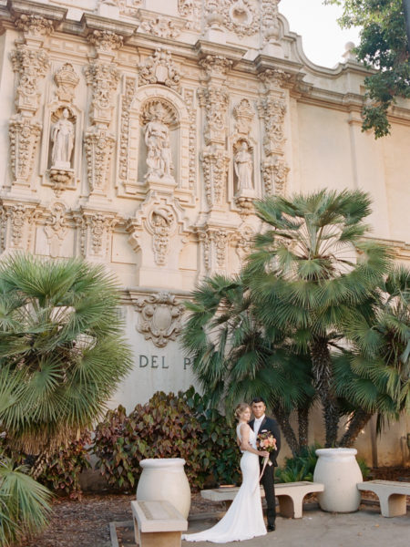
<instances>
[{"instance_id":1,"label":"white stone urn between two benches, right of the groom","mask_svg":"<svg viewBox=\"0 0 410 547\"><path fill-rule=\"evenodd\" d=\"M356 449L318 449L313 481L322 482L323 492L317 498L323 511L353 512L359 509L357 483L363 481L356 461Z\"/></svg>"}]
</instances>

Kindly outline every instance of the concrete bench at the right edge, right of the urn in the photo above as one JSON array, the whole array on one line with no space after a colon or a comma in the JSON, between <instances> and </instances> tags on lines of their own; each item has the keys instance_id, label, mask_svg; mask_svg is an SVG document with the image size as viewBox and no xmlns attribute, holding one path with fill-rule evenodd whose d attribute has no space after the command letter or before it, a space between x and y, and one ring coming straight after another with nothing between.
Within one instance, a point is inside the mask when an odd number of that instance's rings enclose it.
<instances>
[{"instance_id":1,"label":"concrete bench at the right edge, right of the urn","mask_svg":"<svg viewBox=\"0 0 410 547\"><path fill-rule=\"evenodd\" d=\"M359 482L357 488L377 494L380 501L380 510L384 517L405 515L405 496L410 496L410 482L368 480L367 482Z\"/></svg>"}]
</instances>

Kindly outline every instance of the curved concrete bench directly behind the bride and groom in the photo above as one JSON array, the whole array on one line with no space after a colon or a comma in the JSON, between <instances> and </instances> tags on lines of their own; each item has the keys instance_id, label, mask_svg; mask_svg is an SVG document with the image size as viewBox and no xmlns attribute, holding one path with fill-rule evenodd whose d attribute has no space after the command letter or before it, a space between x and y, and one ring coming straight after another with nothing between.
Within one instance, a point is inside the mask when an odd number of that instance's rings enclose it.
<instances>
[{"instance_id":1,"label":"curved concrete bench directly behind the bride and groom","mask_svg":"<svg viewBox=\"0 0 410 547\"><path fill-rule=\"evenodd\" d=\"M228 506L235 498L239 487L215 488L212 490L200 490L204 500L225 501ZM275 484L275 496L279 501L279 510L282 516L290 519L302 519L303 498L312 492L323 492L323 484L320 482L281 482ZM261 496L265 492L261 487Z\"/></svg>"}]
</instances>

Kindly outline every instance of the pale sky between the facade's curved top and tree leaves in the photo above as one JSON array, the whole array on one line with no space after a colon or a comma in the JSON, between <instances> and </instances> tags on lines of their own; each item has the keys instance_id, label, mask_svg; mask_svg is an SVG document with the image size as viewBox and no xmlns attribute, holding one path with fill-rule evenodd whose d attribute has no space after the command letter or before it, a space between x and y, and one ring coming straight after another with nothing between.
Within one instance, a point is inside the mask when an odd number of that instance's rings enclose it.
<instances>
[{"instance_id":1,"label":"pale sky between the facade's curved top and tree leaves","mask_svg":"<svg viewBox=\"0 0 410 547\"><path fill-rule=\"evenodd\" d=\"M334 67L343 60L346 42L359 43L357 28L342 30L338 26L340 6L323 5L323 0L281 0L279 11L290 29L302 36L303 51L316 65Z\"/></svg>"}]
</instances>

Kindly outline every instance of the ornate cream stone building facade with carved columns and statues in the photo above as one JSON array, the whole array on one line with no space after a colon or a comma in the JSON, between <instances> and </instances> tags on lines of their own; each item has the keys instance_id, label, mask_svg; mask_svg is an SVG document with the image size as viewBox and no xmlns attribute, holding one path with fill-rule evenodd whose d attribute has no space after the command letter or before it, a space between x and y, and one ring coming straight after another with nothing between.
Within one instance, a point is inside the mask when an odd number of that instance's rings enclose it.
<instances>
[{"instance_id":1,"label":"ornate cream stone building facade with carved columns and statues","mask_svg":"<svg viewBox=\"0 0 410 547\"><path fill-rule=\"evenodd\" d=\"M240 270L255 199L370 191L374 237L409 261L410 104L383 142L363 133L366 69L314 66L280 0L159 5L0 3L0 250L118 276L135 370L114 402L129 407L192 383L181 304Z\"/></svg>"}]
</instances>

